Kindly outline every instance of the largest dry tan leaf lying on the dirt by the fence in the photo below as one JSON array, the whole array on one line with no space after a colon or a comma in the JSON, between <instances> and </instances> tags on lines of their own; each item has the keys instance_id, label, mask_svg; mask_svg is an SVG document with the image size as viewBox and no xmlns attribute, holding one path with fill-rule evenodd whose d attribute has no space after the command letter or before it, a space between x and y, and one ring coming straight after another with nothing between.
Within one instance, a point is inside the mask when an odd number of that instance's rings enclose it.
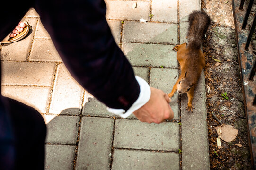
<instances>
[{"instance_id":1,"label":"largest dry tan leaf lying on the dirt by the fence","mask_svg":"<svg viewBox=\"0 0 256 170\"><path fill-rule=\"evenodd\" d=\"M221 126L217 126L217 127L214 126L214 128L216 129L220 138L226 142L233 141L238 135L238 129L235 129L231 125L222 124Z\"/></svg>"}]
</instances>

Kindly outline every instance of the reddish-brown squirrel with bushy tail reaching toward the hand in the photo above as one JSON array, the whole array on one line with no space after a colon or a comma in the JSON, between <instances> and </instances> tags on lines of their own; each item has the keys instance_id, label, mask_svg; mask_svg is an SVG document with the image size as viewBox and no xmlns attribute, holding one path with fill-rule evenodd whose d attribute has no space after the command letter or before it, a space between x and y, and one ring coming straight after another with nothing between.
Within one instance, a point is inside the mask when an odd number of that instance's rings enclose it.
<instances>
[{"instance_id":1,"label":"reddish-brown squirrel with bushy tail reaching toward the hand","mask_svg":"<svg viewBox=\"0 0 256 170\"><path fill-rule=\"evenodd\" d=\"M179 94L187 93L188 112L193 112L192 100L194 89L200 78L201 71L205 67L205 57L201 51L203 36L209 25L210 17L203 11L193 11L189 14L189 28L187 32L188 43L183 43L173 47L177 51L177 60L180 64L181 74L173 86L169 97L178 91Z\"/></svg>"}]
</instances>

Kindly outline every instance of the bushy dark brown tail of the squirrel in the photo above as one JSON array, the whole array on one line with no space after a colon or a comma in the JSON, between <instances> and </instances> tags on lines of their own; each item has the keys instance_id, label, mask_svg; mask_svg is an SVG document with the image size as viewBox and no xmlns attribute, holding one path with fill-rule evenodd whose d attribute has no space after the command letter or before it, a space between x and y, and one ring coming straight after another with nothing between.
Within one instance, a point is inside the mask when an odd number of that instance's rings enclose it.
<instances>
[{"instance_id":1,"label":"bushy dark brown tail of the squirrel","mask_svg":"<svg viewBox=\"0 0 256 170\"><path fill-rule=\"evenodd\" d=\"M187 32L188 46L200 49L203 37L210 25L211 19L203 11L193 11L189 14L189 28Z\"/></svg>"}]
</instances>

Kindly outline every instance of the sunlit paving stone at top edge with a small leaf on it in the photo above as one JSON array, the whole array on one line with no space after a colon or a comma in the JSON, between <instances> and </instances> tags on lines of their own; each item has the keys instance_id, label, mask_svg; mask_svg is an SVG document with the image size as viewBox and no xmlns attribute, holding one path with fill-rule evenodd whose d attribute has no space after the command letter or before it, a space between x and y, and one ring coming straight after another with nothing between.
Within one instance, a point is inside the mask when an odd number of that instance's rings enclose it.
<instances>
[{"instance_id":1,"label":"sunlit paving stone at top edge with a small leaf on it","mask_svg":"<svg viewBox=\"0 0 256 170\"><path fill-rule=\"evenodd\" d=\"M106 18L118 20L150 20L150 2L138 1L137 7L132 8L135 2L111 0L106 1Z\"/></svg>"}]
</instances>

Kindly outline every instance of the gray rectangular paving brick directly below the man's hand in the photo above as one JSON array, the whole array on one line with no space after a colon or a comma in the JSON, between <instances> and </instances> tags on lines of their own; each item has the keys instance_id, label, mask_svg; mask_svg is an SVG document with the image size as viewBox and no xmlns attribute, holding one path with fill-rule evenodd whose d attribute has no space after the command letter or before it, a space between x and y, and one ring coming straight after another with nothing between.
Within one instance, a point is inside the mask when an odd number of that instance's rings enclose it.
<instances>
[{"instance_id":1,"label":"gray rectangular paving brick directly below the man's hand","mask_svg":"<svg viewBox=\"0 0 256 170\"><path fill-rule=\"evenodd\" d=\"M116 148L178 151L179 125L142 123L139 120L117 119L113 146Z\"/></svg>"}]
</instances>

